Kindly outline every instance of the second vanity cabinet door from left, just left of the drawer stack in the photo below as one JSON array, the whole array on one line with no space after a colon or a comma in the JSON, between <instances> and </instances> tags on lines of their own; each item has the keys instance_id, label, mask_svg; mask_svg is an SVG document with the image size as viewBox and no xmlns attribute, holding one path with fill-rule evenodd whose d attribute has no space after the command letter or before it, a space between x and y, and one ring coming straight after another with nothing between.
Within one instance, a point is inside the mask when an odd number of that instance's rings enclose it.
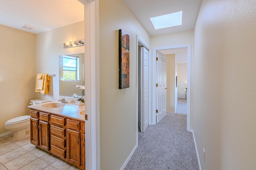
<instances>
[{"instance_id":1,"label":"second vanity cabinet door from left, just left of the drawer stack","mask_svg":"<svg viewBox=\"0 0 256 170\"><path fill-rule=\"evenodd\" d=\"M39 141L40 148L46 151L50 150L50 133L49 133L49 122L39 121Z\"/></svg>"}]
</instances>

